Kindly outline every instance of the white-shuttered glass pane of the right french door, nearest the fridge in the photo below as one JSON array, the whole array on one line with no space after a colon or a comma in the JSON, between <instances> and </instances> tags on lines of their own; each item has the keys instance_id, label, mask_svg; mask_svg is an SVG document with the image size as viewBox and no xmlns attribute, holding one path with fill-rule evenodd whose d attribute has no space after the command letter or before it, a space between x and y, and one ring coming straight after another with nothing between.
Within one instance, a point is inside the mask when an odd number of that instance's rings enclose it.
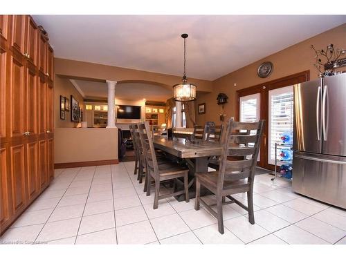
<instances>
[{"instance_id":1,"label":"white-shuttered glass pane of the right french door, nearest the fridge","mask_svg":"<svg viewBox=\"0 0 346 259\"><path fill-rule=\"evenodd\" d=\"M282 133L293 134L293 86L268 93L268 164L275 164L275 142L282 143Z\"/></svg>"}]
</instances>

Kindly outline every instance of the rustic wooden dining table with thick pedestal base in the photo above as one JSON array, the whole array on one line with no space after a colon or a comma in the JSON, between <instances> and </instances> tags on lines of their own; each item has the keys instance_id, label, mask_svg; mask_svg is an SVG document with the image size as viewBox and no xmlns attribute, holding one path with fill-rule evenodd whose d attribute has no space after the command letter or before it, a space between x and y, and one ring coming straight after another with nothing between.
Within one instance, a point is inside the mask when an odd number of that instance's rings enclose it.
<instances>
[{"instance_id":1,"label":"rustic wooden dining table with thick pedestal base","mask_svg":"<svg viewBox=\"0 0 346 259\"><path fill-rule=\"evenodd\" d=\"M221 155L222 145L217 142L190 142L183 138L170 140L167 138L155 138L154 148L164 151L175 157L179 157L188 163L189 167L189 196L194 198L194 173L208 172L208 160L210 157ZM183 188L183 186L176 186ZM206 193L204 193L206 194ZM201 195L203 191L201 190ZM185 200L184 195L176 197L177 200Z\"/></svg>"}]
</instances>

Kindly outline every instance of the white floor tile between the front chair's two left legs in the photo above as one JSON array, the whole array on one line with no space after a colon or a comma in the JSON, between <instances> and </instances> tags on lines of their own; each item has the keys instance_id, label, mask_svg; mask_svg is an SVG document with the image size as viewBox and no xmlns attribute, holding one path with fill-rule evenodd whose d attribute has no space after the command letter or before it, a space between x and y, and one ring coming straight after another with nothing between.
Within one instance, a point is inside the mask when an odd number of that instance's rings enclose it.
<instances>
[{"instance_id":1,"label":"white floor tile between the front chair's two left legs","mask_svg":"<svg viewBox=\"0 0 346 259\"><path fill-rule=\"evenodd\" d=\"M179 215L181 215L181 218L183 218L185 223L188 224L192 230L199 229L200 227L206 227L217 222L217 219L203 208L200 208L199 211L194 209L190 211L183 211L180 212Z\"/></svg>"}]
</instances>

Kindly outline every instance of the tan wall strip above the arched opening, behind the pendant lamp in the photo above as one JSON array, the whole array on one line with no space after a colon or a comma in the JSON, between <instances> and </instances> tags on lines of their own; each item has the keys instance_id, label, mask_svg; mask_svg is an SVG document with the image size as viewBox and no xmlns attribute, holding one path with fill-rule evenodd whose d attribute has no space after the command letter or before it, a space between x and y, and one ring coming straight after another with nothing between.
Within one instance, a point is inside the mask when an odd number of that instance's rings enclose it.
<instances>
[{"instance_id":1,"label":"tan wall strip above the arched opening, behind the pendant lamp","mask_svg":"<svg viewBox=\"0 0 346 259\"><path fill-rule=\"evenodd\" d=\"M174 84L181 82L181 77L152 73L142 70L107 66L71 59L54 58L55 75L73 78L95 79L97 81L143 81L164 86L172 90ZM189 78L189 81L198 86L199 91L210 92L212 82L208 80Z\"/></svg>"}]
</instances>

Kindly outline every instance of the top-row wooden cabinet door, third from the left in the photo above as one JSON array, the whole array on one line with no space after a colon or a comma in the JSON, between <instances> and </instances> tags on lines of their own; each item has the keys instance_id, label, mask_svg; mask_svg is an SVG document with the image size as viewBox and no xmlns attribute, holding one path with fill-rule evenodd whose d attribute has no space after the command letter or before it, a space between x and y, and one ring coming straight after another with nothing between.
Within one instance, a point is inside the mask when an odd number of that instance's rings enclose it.
<instances>
[{"instance_id":1,"label":"top-row wooden cabinet door, third from the left","mask_svg":"<svg viewBox=\"0 0 346 259\"><path fill-rule=\"evenodd\" d=\"M37 65L37 33L38 29L35 24L35 21L28 15L26 17L26 54L28 60Z\"/></svg>"}]
</instances>

